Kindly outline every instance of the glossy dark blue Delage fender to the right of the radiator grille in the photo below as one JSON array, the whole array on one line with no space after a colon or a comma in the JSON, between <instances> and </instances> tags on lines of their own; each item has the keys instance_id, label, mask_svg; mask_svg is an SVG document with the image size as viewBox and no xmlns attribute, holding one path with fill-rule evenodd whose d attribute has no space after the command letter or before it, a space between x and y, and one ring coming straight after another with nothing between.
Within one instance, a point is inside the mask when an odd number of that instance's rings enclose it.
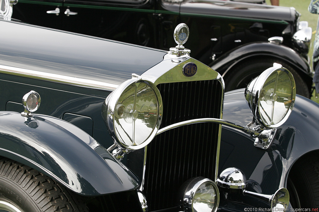
<instances>
[{"instance_id":1,"label":"glossy dark blue Delage fender to the right of the radiator grille","mask_svg":"<svg viewBox=\"0 0 319 212\"><path fill-rule=\"evenodd\" d=\"M244 89L226 92L223 119L247 125L253 116L244 99ZM287 188L293 164L306 154L318 154L319 105L296 95L293 111L288 120L277 128L274 143L268 150L254 147L254 139L230 127L222 128L219 174L228 167L241 169L251 182L252 191L274 194L280 187ZM306 188L305 188L306 189ZM255 206L254 202L243 200Z\"/></svg>"}]
</instances>

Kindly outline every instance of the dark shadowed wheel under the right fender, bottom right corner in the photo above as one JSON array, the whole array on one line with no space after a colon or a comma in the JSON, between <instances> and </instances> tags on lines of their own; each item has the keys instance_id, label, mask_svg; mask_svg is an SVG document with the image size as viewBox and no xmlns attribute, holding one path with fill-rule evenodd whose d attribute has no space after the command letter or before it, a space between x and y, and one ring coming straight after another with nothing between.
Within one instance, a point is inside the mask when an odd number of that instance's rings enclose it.
<instances>
[{"instance_id":1,"label":"dark shadowed wheel under the right fender, bottom right corner","mask_svg":"<svg viewBox=\"0 0 319 212\"><path fill-rule=\"evenodd\" d=\"M319 156L314 152L301 158L290 171L287 189L293 208L319 206Z\"/></svg>"}]
</instances>

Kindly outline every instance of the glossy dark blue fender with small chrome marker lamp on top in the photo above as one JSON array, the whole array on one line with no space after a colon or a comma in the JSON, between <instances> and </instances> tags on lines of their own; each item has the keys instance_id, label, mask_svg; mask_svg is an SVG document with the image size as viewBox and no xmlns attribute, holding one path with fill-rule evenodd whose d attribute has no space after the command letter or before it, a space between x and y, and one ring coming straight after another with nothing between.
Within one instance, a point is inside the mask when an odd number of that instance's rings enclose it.
<instances>
[{"instance_id":1,"label":"glossy dark blue fender with small chrome marker lamp on top","mask_svg":"<svg viewBox=\"0 0 319 212\"><path fill-rule=\"evenodd\" d=\"M80 195L137 188L135 176L91 136L45 115L0 112L0 155L26 164Z\"/></svg>"}]
</instances>

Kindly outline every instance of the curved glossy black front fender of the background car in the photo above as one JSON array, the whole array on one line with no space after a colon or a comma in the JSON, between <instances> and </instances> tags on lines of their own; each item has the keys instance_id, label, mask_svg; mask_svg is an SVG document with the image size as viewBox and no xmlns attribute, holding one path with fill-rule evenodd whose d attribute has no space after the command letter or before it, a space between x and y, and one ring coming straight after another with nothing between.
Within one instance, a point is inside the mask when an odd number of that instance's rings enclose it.
<instances>
[{"instance_id":1,"label":"curved glossy black front fender of the background car","mask_svg":"<svg viewBox=\"0 0 319 212\"><path fill-rule=\"evenodd\" d=\"M232 68L254 58L259 60L276 58L286 62L300 74L308 87L311 87L312 72L307 60L293 49L275 43L257 42L241 45L234 50L226 52L210 66L226 79L231 77Z\"/></svg>"}]
</instances>

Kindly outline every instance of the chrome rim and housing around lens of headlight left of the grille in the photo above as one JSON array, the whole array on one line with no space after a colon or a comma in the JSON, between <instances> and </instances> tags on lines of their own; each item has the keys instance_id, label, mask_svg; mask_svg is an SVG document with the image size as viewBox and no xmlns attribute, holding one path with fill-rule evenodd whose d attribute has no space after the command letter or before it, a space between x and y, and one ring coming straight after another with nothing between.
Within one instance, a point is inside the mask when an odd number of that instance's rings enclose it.
<instances>
[{"instance_id":1,"label":"chrome rim and housing around lens of headlight left of the grille","mask_svg":"<svg viewBox=\"0 0 319 212\"><path fill-rule=\"evenodd\" d=\"M115 120L115 109L117 107L117 102L120 99L122 93L125 91L126 88L128 88L129 86L136 84L136 83L145 83L146 85L148 85L152 88L152 90L155 93L156 98L157 98L158 115L157 115L156 125L155 125L152 133L148 136L148 138L143 143L141 143L139 145L131 146L131 145L125 144L125 142L117 136L116 130L115 130L115 121L114 120ZM113 138L115 144L120 148L124 148L124 149L128 149L128 150L141 149L141 148L147 146L153 140L157 131L159 130L161 120L162 120L162 114L163 114L163 102L162 102L162 97L160 95L158 88L156 87L156 85L154 83L152 83L149 80L145 80L145 79L141 79L141 78L132 78L132 79L126 80L121 85L119 85L107 97L107 99L103 103L103 107L102 107L103 119L105 120L105 122L108 126L108 131L109 131L111 137Z\"/></svg>"}]
</instances>

